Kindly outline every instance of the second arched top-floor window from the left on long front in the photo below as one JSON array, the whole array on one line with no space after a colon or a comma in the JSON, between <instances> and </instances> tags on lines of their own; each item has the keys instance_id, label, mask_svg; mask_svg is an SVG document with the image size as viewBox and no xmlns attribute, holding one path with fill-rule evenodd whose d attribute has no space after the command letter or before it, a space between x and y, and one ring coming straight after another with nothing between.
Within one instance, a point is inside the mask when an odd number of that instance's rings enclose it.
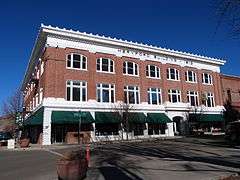
<instances>
[{"instance_id":1,"label":"second arched top-floor window from the left on long front","mask_svg":"<svg viewBox=\"0 0 240 180\"><path fill-rule=\"evenodd\" d=\"M97 59L97 71L99 72L114 72L114 62L108 58Z\"/></svg>"}]
</instances>

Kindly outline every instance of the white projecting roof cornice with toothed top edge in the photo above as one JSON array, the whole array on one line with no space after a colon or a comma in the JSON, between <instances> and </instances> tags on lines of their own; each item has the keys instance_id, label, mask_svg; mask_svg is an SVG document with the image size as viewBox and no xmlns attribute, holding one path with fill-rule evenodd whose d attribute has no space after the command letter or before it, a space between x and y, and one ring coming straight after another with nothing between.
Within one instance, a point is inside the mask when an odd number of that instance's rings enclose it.
<instances>
[{"instance_id":1,"label":"white projecting roof cornice with toothed top edge","mask_svg":"<svg viewBox=\"0 0 240 180\"><path fill-rule=\"evenodd\" d=\"M187 52L176 51L176 50L157 47L153 45L142 44L138 42L132 42L132 41L127 41L127 40L122 40L117 38L111 38L103 35L101 36L98 34L94 35L92 33L79 32L79 31L74 31L72 29L67 30L65 28L52 27L50 25L46 26L44 24L41 24L40 30L38 32L38 36L35 40L35 43L29 58L27 69L24 74L24 79L22 81L22 86L21 86L22 91L25 89L26 83L29 79L29 76L30 76L29 72L32 71L32 68L34 68L37 58L39 58L38 57L40 54L39 51L41 51L42 48L45 47L44 40L46 39L47 35L58 35L63 37L71 37L73 39L84 39L88 41L99 42L102 44L128 47L128 48L138 49L138 50L152 52L156 54L163 54L163 55L175 56L179 58L186 58L190 60L202 61L205 63L215 64L218 66L224 65L226 63L226 61L223 59L211 58L211 57L201 56L198 54L191 54Z\"/></svg>"}]
</instances>

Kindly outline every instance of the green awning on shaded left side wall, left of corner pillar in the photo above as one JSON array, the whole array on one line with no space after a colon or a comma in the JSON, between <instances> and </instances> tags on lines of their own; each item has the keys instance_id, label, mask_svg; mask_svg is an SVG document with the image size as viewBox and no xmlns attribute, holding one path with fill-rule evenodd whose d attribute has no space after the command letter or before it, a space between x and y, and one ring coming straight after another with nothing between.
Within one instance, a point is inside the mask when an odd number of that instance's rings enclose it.
<instances>
[{"instance_id":1,"label":"green awning on shaded left side wall, left of corner pillar","mask_svg":"<svg viewBox=\"0 0 240 180\"><path fill-rule=\"evenodd\" d=\"M30 115L25 121L24 126L38 126L43 124L43 108Z\"/></svg>"}]
</instances>

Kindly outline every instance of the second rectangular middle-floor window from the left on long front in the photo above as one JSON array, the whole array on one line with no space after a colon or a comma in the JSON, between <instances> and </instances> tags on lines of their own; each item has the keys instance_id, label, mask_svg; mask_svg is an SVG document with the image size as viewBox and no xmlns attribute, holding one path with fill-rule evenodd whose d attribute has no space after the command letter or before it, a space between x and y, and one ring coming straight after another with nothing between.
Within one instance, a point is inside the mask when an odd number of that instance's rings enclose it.
<instances>
[{"instance_id":1,"label":"second rectangular middle-floor window from the left on long front","mask_svg":"<svg viewBox=\"0 0 240 180\"><path fill-rule=\"evenodd\" d=\"M115 102L115 87L112 84L97 84L98 102Z\"/></svg>"}]
</instances>

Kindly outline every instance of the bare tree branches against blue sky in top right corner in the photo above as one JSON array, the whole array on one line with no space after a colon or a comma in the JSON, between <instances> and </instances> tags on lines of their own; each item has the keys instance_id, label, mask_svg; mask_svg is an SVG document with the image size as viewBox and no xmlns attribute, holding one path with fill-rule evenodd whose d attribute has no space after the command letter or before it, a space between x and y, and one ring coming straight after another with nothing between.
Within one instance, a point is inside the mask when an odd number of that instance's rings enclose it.
<instances>
[{"instance_id":1,"label":"bare tree branches against blue sky in top right corner","mask_svg":"<svg viewBox=\"0 0 240 180\"><path fill-rule=\"evenodd\" d=\"M230 28L232 37L240 35L240 0L217 0L217 29L222 25Z\"/></svg>"}]
</instances>

